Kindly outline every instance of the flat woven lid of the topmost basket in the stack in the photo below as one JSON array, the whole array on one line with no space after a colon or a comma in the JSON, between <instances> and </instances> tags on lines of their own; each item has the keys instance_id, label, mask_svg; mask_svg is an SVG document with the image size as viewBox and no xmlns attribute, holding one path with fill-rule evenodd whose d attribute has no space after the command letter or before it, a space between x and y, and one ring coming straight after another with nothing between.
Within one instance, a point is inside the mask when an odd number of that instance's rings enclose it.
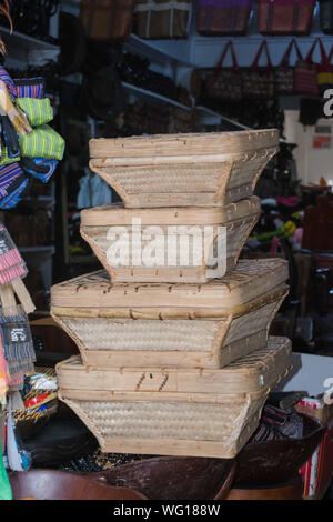
<instances>
[{"instance_id":1,"label":"flat woven lid of the topmost basket in the stack","mask_svg":"<svg viewBox=\"0 0 333 522\"><path fill-rule=\"evenodd\" d=\"M239 153L279 144L278 129L235 132L153 134L130 138L100 138L89 142L90 158L138 158ZM105 153L107 152L107 153Z\"/></svg>"}]
</instances>

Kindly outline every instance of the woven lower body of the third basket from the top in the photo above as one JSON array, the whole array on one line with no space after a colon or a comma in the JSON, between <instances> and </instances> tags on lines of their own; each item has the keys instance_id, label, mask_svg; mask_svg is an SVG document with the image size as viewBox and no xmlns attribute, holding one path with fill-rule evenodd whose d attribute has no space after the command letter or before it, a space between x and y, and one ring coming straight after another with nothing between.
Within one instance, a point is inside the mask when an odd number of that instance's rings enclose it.
<instances>
[{"instance_id":1,"label":"woven lower body of the third basket from the top","mask_svg":"<svg viewBox=\"0 0 333 522\"><path fill-rule=\"evenodd\" d=\"M171 365L223 368L266 344L270 324L287 289L266 294L259 307L220 320L108 319L57 315L54 320L78 344L87 365ZM263 302L265 304L260 305ZM249 313L246 311L249 310Z\"/></svg>"}]
</instances>

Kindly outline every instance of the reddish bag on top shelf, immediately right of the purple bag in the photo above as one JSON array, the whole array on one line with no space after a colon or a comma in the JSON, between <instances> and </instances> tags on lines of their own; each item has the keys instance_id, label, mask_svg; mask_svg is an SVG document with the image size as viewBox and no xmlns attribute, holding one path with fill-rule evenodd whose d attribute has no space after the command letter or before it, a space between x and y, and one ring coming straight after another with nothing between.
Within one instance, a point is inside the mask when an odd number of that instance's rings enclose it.
<instances>
[{"instance_id":1,"label":"reddish bag on top shelf, immediately right of the purple bag","mask_svg":"<svg viewBox=\"0 0 333 522\"><path fill-rule=\"evenodd\" d=\"M315 0L259 0L259 32L309 34Z\"/></svg>"}]
</instances>

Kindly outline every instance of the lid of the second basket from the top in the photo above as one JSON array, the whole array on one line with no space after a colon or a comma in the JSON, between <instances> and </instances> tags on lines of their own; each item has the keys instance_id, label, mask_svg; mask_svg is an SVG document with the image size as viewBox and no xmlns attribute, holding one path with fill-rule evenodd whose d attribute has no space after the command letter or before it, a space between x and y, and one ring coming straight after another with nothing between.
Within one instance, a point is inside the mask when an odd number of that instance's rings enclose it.
<instances>
[{"instance_id":1,"label":"lid of the second basket from the top","mask_svg":"<svg viewBox=\"0 0 333 522\"><path fill-rule=\"evenodd\" d=\"M252 195L226 207L173 207L158 209L127 209L123 203L112 203L81 210L81 227L111 227L132 224L205 225L223 224L260 213L261 202Z\"/></svg>"}]
</instances>

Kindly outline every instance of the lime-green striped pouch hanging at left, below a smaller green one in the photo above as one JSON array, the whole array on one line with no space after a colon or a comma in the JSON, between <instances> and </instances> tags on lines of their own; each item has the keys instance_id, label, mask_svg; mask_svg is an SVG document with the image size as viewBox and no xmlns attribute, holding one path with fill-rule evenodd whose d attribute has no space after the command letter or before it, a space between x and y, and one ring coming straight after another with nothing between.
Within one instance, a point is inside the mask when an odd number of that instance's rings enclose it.
<instances>
[{"instance_id":1,"label":"lime-green striped pouch hanging at left, below a smaller green one","mask_svg":"<svg viewBox=\"0 0 333 522\"><path fill-rule=\"evenodd\" d=\"M40 126L20 135L21 157L62 160L64 140L50 126Z\"/></svg>"}]
</instances>

